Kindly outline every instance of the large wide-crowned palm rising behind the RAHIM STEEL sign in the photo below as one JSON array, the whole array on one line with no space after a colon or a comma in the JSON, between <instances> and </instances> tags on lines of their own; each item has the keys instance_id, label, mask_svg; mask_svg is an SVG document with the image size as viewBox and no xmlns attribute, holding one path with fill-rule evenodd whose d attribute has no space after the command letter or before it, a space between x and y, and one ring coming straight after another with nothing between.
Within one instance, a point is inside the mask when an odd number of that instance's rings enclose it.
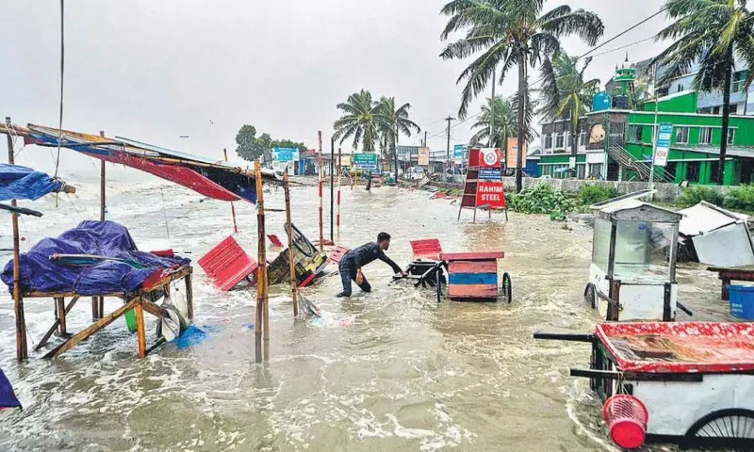
<instances>
[{"instance_id":1,"label":"large wide-crowned palm rising behind the RAHIM STEEL sign","mask_svg":"<svg viewBox=\"0 0 754 452\"><path fill-rule=\"evenodd\" d=\"M541 14L545 0L452 0L442 13L450 16L441 39L453 32L467 29L466 37L449 44L440 56L443 59L466 58L482 52L461 72L460 83L466 81L458 116L465 117L469 102L481 93L495 69L500 66L500 81L510 69L518 66L518 104L529 105L527 67L534 68L545 56L559 52L559 38L578 35L593 45L602 36L605 26L596 14L583 9L572 11L562 5ZM497 83L498 81L492 81ZM517 136L525 136L528 128L526 108L518 110ZM516 163L516 190L521 191L523 146L519 146Z\"/></svg>"}]
</instances>

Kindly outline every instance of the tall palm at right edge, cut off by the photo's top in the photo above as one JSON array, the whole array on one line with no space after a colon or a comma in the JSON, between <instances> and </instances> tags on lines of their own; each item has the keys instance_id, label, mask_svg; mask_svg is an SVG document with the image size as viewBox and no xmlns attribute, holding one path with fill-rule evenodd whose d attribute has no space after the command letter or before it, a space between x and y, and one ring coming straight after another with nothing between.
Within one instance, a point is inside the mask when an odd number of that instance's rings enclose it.
<instances>
[{"instance_id":1,"label":"tall palm at right edge, cut off by the photo's top","mask_svg":"<svg viewBox=\"0 0 754 452\"><path fill-rule=\"evenodd\" d=\"M728 148L728 123L731 114L731 79L735 58L754 68L754 15L746 8L746 0L667 0L668 16L675 23L657 34L657 41L673 39L664 52L652 62L667 67L659 84L688 74L691 65L699 64L694 77L694 90L722 88L722 133L718 184L725 174L725 151ZM744 89L754 78L749 70Z\"/></svg>"}]
</instances>

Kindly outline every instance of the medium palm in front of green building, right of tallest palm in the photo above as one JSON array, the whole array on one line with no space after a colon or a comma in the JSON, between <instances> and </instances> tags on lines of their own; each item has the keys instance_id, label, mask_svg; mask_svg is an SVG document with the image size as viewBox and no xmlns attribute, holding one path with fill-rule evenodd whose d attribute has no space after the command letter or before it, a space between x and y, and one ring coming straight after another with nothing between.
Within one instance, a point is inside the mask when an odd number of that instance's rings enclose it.
<instances>
[{"instance_id":1,"label":"medium palm in front of green building, right of tallest palm","mask_svg":"<svg viewBox=\"0 0 754 452\"><path fill-rule=\"evenodd\" d=\"M539 113L548 121L569 121L571 136L570 170L575 174L576 156L578 154L579 118L590 109L592 98L599 90L599 79L584 80L592 59L584 60L578 68L578 57L560 52L550 59L545 56L542 62L542 108Z\"/></svg>"}]
</instances>

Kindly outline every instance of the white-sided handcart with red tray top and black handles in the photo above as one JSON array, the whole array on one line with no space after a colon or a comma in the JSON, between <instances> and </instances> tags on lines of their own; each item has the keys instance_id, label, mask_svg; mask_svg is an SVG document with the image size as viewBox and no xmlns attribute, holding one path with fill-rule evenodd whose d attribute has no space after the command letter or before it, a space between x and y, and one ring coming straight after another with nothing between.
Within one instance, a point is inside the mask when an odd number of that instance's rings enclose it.
<instances>
[{"instance_id":1,"label":"white-sided handcart with red tray top and black handles","mask_svg":"<svg viewBox=\"0 0 754 452\"><path fill-rule=\"evenodd\" d=\"M614 395L641 407L646 442L754 450L754 324L611 322L534 337L592 344L590 368L571 375L590 378L603 412Z\"/></svg>"}]
</instances>

